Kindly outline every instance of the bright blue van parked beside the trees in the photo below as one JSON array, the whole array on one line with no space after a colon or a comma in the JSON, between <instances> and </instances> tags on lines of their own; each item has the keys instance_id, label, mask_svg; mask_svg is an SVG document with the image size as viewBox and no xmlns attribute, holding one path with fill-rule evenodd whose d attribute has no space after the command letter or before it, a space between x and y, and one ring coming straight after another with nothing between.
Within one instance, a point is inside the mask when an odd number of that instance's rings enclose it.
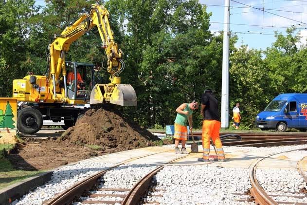
<instances>
[{"instance_id":1,"label":"bright blue van parked beside the trees","mask_svg":"<svg viewBox=\"0 0 307 205\"><path fill-rule=\"evenodd\" d=\"M261 130L287 128L307 130L307 94L286 93L275 97L264 111L257 114L256 127Z\"/></svg>"}]
</instances>

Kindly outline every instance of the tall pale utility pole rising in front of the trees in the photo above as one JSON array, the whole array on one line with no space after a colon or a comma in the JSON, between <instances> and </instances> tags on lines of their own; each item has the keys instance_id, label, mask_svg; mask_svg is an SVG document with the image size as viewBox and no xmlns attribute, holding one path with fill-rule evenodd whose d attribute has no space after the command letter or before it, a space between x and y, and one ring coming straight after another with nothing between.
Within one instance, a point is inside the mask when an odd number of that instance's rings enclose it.
<instances>
[{"instance_id":1,"label":"tall pale utility pole rising in front of the trees","mask_svg":"<svg viewBox=\"0 0 307 205\"><path fill-rule=\"evenodd\" d=\"M225 0L223 33L222 107L221 127L229 125L229 10L230 0Z\"/></svg>"}]
</instances>

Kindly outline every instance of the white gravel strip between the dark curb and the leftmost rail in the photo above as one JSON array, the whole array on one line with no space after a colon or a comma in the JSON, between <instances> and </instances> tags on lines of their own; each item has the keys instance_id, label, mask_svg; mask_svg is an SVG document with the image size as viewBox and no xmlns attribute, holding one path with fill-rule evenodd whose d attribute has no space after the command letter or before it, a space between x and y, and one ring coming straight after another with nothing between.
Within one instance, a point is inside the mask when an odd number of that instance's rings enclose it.
<instances>
[{"instance_id":1,"label":"white gravel strip between the dark curb and the leftmost rail","mask_svg":"<svg viewBox=\"0 0 307 205\"><path fill-rule=\"evenodd\" d=\"M51 180L45 185L39 186L33 191L29 191L29 193L24 195L21 199L15 200L12 205L41 205L42 202L51 199L55 194L114 165L115 164L101 162L81 162L59 168L54 171Z\"/></svg>"}]
</instances>

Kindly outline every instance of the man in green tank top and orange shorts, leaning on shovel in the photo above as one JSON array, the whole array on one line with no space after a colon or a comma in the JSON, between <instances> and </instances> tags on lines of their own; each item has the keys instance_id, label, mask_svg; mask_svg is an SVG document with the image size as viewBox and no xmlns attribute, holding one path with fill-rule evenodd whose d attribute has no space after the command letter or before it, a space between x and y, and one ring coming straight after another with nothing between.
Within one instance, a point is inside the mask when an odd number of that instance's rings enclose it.
<instances>
[{"instance_id":1,"label":"man in green tank top and orange shorts, leaning on shovel","mask_svg":"<svg viewBox=\"0 0 307 205\"><path fill-rule=\"evenodd\" d=\"M189 152L185 148L185 141L187 140L188 130L186 127L186 122L189 121L190 130L193 128L193 111L198 109L198 102L183 103L177 109L177 116L175 119L175 152L176 154L188 154ZM179 141L181 140L182 148L178 148Z\"/></svg>"}]
</instances>

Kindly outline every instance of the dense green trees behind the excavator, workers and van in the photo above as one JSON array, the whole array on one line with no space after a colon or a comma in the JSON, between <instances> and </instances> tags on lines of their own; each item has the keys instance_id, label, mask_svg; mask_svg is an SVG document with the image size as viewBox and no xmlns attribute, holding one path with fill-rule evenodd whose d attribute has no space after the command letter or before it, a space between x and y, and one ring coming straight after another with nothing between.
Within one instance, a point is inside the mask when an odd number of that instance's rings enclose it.
<instances>
[{"instance_id":1,"label":"dense green trees behind the excavator, workers and van","mask_svg":"<svg viewBox=\"0 0 307 205\"><path fill-rule=\"evenodd\" d=\"M49 0L45 8L34 0L6 0L0 4L0 96L11 96L13 79L28 72L44 75L48 44L89 11L95 0ZM101 3L101 2L100 2ZM198 0L108 0L110 23L126 64L123 84L137 93L138 107L119 108L142 127L171 125L176 108L200 101L205 88L221 101L223 34L209 31L211 13ZM235 48L230 38L230 117L240 102L241 128L252 128L258 112L279 93L307 92L307 48L297 46L295 29L265 51ZM66 60L97 65L99 83L108 83L105 51L96 29L70 46ZM1 117L1 113L0 113ZM193 114L201 128L199 112ZM3 120L3 119L2 119ZM1 121L1 118L0 118Z\"/></svg>"}]
</instances>

